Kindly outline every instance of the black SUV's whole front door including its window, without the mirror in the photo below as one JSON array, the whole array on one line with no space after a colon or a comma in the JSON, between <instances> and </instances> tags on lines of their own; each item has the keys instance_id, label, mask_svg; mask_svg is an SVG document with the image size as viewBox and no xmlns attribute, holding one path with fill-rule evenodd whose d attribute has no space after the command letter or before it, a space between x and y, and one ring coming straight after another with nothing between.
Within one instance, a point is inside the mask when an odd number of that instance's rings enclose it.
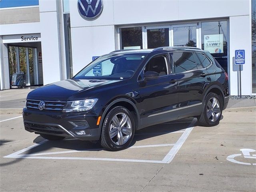
<instances>
[{"instance_id":1,"label":"black SUV's whole front door including its window, without the mirror","mask_svg":"<svg viewBox=\"0 0 256 192\"><path fill-rule=\"evenodd\" d=\"M139 81L140 118L144 127L178 118L178 115L170 114L177 108L178 82L171 82L174 77L170 74L168 60L167 55L155 56L142 71L143 74L146 71L159 74L157 79L144 81L142 77Z\"/></svg>"}]
</instances>

